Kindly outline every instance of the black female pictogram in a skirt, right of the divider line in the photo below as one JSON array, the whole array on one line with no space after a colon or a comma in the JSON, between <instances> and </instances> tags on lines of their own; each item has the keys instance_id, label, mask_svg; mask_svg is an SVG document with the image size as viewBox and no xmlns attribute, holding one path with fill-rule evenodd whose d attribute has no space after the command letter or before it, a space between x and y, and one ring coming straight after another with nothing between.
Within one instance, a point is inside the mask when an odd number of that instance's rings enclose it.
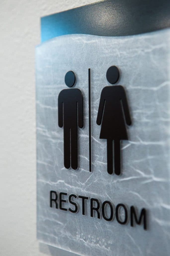
<instances>
[{"instance_id":1,"label":"black female pictogram in a skirt, right of the divider line","mask_svg":"<svg viewBox=\"0 0 170 256\"><path fill-rule=\"evenodd\" d=\"M114 84L119 79L119 69L111 66L106 78ZM128 140L126 124L131 124L130 112L125 89L121 85L106 86L100 96L97 124L101 124L100 139L107 140L107 171L113 173L113 141L114 172L121 174L121 140Z\"/></svg>"}]
</instances>

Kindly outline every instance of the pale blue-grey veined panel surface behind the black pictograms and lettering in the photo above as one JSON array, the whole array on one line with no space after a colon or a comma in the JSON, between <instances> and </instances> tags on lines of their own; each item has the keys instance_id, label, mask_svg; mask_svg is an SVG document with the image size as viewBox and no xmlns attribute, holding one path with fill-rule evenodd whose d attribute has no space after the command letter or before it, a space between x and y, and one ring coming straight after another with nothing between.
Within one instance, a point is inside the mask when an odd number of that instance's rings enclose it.
<instances>
[{"instance_id":1,"label":"pale blue-grey veined panel surface behind the black pictograms and lettering","mask_svg":"<svg viewBox=\"0 0 170 256\"><path fill-rule=\"evenodd\" d=\"M132 125L122 141L122 175L107 173L107 144L96 124L107 69L115 65L127 93ZM89 172L88 68L91 69L92 172ZM63 128L58 126L58 95L67 89L67 71L84 96L84 127L79 129L79 168L63 165ZM37 237L84 256L169 255L170 251L170 29L101 37L66 35L36 48ZM148 229L50 208L55 190L147 209ZM64 206L69 207L66 203Z\"/></svg>"}]
</instances>

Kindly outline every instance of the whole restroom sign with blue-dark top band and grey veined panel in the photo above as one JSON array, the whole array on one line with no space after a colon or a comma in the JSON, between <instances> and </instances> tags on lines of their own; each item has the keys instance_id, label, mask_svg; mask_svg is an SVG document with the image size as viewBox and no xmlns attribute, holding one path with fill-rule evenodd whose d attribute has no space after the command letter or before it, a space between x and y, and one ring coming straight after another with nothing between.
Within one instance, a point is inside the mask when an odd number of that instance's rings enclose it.
<instances>
[{"instance_id":1,"label":"whole restroom sign with blue-dark top band and grey veined panel","mask_svg":"<svg viewBox=\"0 0 170 256\"><path fill-rule=\"evenodd\" d=\"M156 3L102 1L41 19L43 243L82 256L168 255L169 2Z\"/></svg>"}]
</instances>

